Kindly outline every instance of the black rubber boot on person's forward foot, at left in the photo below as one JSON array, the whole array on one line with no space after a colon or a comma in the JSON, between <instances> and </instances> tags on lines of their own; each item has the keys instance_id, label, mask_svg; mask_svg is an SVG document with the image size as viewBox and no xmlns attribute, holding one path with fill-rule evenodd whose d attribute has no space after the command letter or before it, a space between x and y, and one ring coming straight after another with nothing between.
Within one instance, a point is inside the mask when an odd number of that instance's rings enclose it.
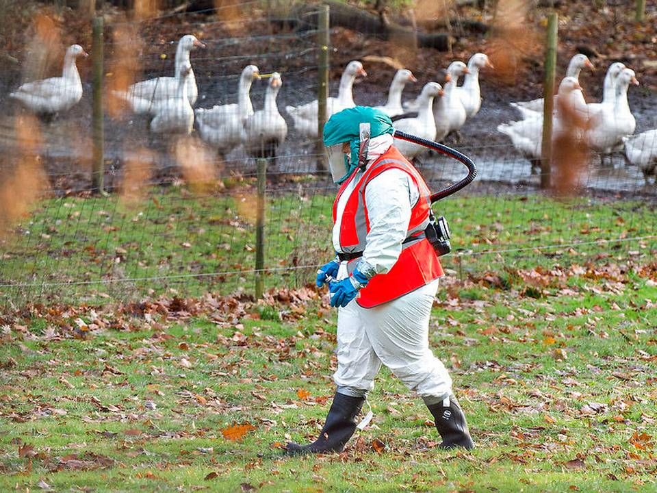
<instances>
[{"instance_id":1,"label":"black rubber boot on person's forward foot, at left","mask_svg":"<svg viewBox=\"0 0 657 493\"><path fill-rule=\"evenodd\" d=\"M356 416L361 412L364 402L365 397L352 397L336 392L318 439L308 445L289 442L285 446L285 454L342 452L345 444L356 431Z\"/></svg>"}]
</instances>

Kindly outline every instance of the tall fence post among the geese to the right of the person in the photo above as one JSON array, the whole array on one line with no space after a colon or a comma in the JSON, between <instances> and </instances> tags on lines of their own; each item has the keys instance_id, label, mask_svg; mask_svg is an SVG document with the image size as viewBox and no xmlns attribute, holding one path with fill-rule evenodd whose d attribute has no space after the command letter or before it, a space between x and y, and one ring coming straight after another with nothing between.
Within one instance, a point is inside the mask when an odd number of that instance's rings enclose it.
<instances>
[{"instance_id":1,"label":"tall fence post among the geese to the right of the person","mask_svg":"<svg viewBox=\"0 0 657 493\"><path fill-rule=\"evenodd\" d=\"M554 110L554 70L556 67L558 16L548 17L548 35L545 44L545 79L543 79L543 142L541 145L541 188L550 188L552 165L552 110Z\"/></svg>"}]
</instances>

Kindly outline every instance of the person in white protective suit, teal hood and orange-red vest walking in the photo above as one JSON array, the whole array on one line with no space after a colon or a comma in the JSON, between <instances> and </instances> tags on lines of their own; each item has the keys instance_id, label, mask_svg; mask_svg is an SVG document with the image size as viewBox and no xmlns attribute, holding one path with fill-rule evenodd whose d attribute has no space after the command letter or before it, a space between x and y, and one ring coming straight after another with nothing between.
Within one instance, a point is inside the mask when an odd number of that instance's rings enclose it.
<instances>
[{"instance_id":1,"label":"person in white protective suit, teal hood and orange-red vest walking","mask_svg":"<svg viewBox=\"0 0 657 493\"><path fill-rule=\"evenodd\" d=\"M385 364L422 396L441 435L441 448L473 448L452 379L428 344L429 316L443 275L424 230L430 192L393 145L390 118L357 106L324 125L333 181L334 260L318 270L338 308L337 390L315 442L288 443L288 455L342 451L374 377Z\"/></svg>"}]
</instances>

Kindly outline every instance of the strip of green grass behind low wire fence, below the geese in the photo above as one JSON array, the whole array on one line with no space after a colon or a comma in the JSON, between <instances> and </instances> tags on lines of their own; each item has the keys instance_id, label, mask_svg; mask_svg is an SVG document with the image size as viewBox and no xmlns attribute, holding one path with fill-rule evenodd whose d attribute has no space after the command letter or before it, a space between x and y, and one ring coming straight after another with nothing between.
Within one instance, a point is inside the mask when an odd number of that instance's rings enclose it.
<instances>
[{"instance_id":1,"label":"strip of green grass behind low wire fence, below the geese","mask_svg":"<svg viewBox=\"0 0 657 493\"><path fill-rule=\"evenodd\" d=\"M332 256L333 188L300 181L292 189L270 193L267 286L300 288L313 266ZM450 221L454 255L444 264L462 280L493 268L649 254L657 247L656 205L500 194L453 197L434 210ZM191 296L251 292L255 214L253 179L196 193L155 188L140 201L116 195L42 201L12 236L0 236L0 305L35 296L75 304L128 301L170 289Z\"/></svg>"}]
</instances>

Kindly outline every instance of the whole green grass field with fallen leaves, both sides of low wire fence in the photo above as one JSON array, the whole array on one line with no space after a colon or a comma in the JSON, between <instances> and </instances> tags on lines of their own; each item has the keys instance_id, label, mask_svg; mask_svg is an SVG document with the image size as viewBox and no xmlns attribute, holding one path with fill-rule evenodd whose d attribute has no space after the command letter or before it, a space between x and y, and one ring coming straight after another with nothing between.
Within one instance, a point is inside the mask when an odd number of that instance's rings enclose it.
<instances>
[{"instance_id":1,"label":"whole green grass field with fallen leaves, both sides of low wire fence","mask_svg":"<svg viewBox=\"0 0 657 493\"><path fill-rule=\"evenodd\" d=\"M241 200L47 201L0 277L237 270L253 260ZM323 260L329 207L274 199L268 266ZM62 285L0 320L0 491L657 491L655 240L571 245L650 236L654 207L469 197L440 213L463 255L446 259L430 342L474 451L440 451L421 399L384 369L344 453L282 457L315 438L333 394L335 311L302 287L309 270L272 273L259 302L220 296L248 275Z\"/></svg>"}]
</instances>

